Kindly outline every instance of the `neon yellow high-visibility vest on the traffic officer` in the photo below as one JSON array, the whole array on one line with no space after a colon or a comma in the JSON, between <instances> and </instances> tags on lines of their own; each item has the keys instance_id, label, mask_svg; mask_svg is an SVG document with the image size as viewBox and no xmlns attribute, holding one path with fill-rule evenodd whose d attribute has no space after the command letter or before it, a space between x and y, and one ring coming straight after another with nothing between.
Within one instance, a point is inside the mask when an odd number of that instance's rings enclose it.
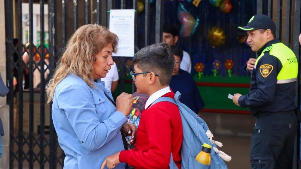
<instances>
[{"instance_id":1,"label":"neon yellow high-visibility vest on the traffic officer","mask_svg":"<svg viewBox=\"0 0 301 169\"><path fill-rule=\"evenodd\" d=\"M273 55L276 58L278 58L282 64L282 69L277 75L277 84L297 81L298 61L296 55L291 49L289 49L287 46L280 42L277 44L272 44L272 46L269 46L262 51L260 56L256 59L255 68L259 59L264 55L265 52L268 51L270 55Z\"/></svg>"}]
</instances>

